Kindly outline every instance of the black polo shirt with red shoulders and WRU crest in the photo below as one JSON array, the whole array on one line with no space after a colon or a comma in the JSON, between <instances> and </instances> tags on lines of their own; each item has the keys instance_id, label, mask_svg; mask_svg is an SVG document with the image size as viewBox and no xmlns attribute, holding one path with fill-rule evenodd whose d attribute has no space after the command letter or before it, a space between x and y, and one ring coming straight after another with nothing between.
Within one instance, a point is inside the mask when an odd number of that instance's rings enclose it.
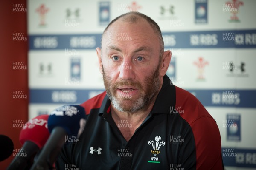
<instances>
[{"instance_id":1,"label":"black polo shirt with red shoulders and WRU crest","mask_svg":"<svg viewBox=\"0 0 256 170\"><path fill-rule=\"evenodd\" d=\"M66 144L57 170L221 170L221 139L215 120L189 92L165 75L148 117L127 142L113 121L106 93L87 100L79 142ZM73 169L72 169L73 168Z\"/></svg>"}]
</instances>

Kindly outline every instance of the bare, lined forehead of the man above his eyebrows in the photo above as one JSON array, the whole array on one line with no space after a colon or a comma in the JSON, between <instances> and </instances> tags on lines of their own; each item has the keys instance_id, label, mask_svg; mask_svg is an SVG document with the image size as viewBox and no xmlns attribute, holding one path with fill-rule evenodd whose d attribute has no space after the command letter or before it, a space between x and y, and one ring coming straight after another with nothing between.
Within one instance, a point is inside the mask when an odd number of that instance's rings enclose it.
<instances>
[{"instance_id":1,"label":"bare, lined forehead of the man above his eyebrows","mask_svg":"<svg viewBox=\"0 0 256 170\"><path fill-rule=\"evenodd\" d=\"M153 46L158 46L158 40L157 33L144 18L139 17L132 23L119 18L104 31L101 44L106 51L121 51L128 46L131 51L152 51Z\"/></svg>"}]
</instances>

